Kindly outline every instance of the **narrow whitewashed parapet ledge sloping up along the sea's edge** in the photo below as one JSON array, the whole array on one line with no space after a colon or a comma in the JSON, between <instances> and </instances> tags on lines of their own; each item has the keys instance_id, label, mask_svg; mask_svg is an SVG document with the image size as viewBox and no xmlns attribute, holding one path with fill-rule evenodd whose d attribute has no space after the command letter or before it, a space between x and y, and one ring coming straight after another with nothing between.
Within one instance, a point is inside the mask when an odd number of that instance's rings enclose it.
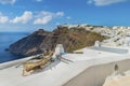
<instances>
[{"instance_id":1,"label":"narrow whitewashed parapet ledge sloping up along the sea's edge","mask_svg":"<svg viewBox=\"0 0 130 86\"><path fill-rule=\"evenodd\" d=\"M34 56L29 56L29 57L25 57L25 58L21 58L21 59L17 59L17 60L12 60L12 61L8 61L8 62L3 62L3 63L0 63L0 70L2 69L6 69L6 68L10 68L12 66L15 66L15 64L21 64L22 62L25 62L34 57L37 57L37 56L40 56L42 54L39 54L39 55L34 55Z\"/></svg>"}]
</instances>

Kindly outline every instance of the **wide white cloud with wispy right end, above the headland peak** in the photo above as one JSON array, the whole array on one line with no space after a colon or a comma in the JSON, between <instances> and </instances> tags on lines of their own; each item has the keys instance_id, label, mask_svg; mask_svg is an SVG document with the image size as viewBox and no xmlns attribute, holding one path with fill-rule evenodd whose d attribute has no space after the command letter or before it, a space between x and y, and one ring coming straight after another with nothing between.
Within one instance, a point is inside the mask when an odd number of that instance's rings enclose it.
<instances>
[{"instance_id":1,"label":"wide white cloud with wispy right end, above the headland peak","mask_svg":"<svg viewBox=\"0 0 130 86\"><path fill-rule=\"evenodd\" d=\"M42 11L36 15L36 19L34 22L35 25L42 24L46 25L50 23L53 18L55 17L62 17L64 16L64 12L57 12L57 13L52 13L52 12L47 12Z\"/></svg>"}]
</instances>

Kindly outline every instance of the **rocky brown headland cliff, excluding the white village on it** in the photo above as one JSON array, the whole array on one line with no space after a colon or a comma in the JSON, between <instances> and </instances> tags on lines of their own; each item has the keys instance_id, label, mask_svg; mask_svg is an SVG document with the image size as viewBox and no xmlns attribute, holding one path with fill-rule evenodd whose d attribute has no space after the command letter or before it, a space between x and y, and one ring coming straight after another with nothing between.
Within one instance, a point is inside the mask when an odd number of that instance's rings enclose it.
<instances>
[{"instance_id":1,"label":"rocky brown headland cliff, excluding the white village on it","mask_svg":"<svg viewBox=\"0 0 130 86\"><path fill-rule=\"evenodd\" d=\"M84 46L91 46L96 40L102 41L104 39L103 35L82 28L57 27L52 32L39 29L11 44L9 51L17 55L30 56L41 54L46 49L54 49L56 44L63 44L66 52L73 52Z\"/></svg>"}]
</instances>

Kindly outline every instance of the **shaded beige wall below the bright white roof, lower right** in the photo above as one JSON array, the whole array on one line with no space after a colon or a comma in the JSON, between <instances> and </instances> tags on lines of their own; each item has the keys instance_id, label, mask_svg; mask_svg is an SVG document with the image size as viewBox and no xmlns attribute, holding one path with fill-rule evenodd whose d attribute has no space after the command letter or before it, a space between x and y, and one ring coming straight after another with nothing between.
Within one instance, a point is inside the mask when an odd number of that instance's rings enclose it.
<instances>
[{"instance_id":1,"label":"shaded beige wall below the bright white roof, lower right","mask_svg":"<svg viewBox=\"0 0 130 86\"><path fill-rule=\"evenodd\" d=\"M63 86L102 86L108 75L118 70L122 73L130 70L130 59L110 62L106 64L93 66L82 73L68 81Z\"/></svg>"}]
</instances>

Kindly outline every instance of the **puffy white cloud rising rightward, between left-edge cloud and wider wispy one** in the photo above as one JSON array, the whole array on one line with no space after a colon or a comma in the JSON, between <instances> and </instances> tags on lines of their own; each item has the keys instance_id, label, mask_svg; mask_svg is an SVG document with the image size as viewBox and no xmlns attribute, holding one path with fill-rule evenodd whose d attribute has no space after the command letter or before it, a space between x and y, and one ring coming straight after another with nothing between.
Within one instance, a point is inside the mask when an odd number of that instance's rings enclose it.
<instances>
[{"instance_id":1,"label":"puffy white cloud rising rightward, between left-edge cloud and wider wispy one","mask_svg":"<svg viewBox=\"0 0 130 86\"><path fill-rule=\"evenodd\" d=\"M10 23L12 24L26 24L28 20L32 18L32 13L30 11L25 11L22 16L16 16L14 19L11 19Z\"/></svg>"}]
</instances>

